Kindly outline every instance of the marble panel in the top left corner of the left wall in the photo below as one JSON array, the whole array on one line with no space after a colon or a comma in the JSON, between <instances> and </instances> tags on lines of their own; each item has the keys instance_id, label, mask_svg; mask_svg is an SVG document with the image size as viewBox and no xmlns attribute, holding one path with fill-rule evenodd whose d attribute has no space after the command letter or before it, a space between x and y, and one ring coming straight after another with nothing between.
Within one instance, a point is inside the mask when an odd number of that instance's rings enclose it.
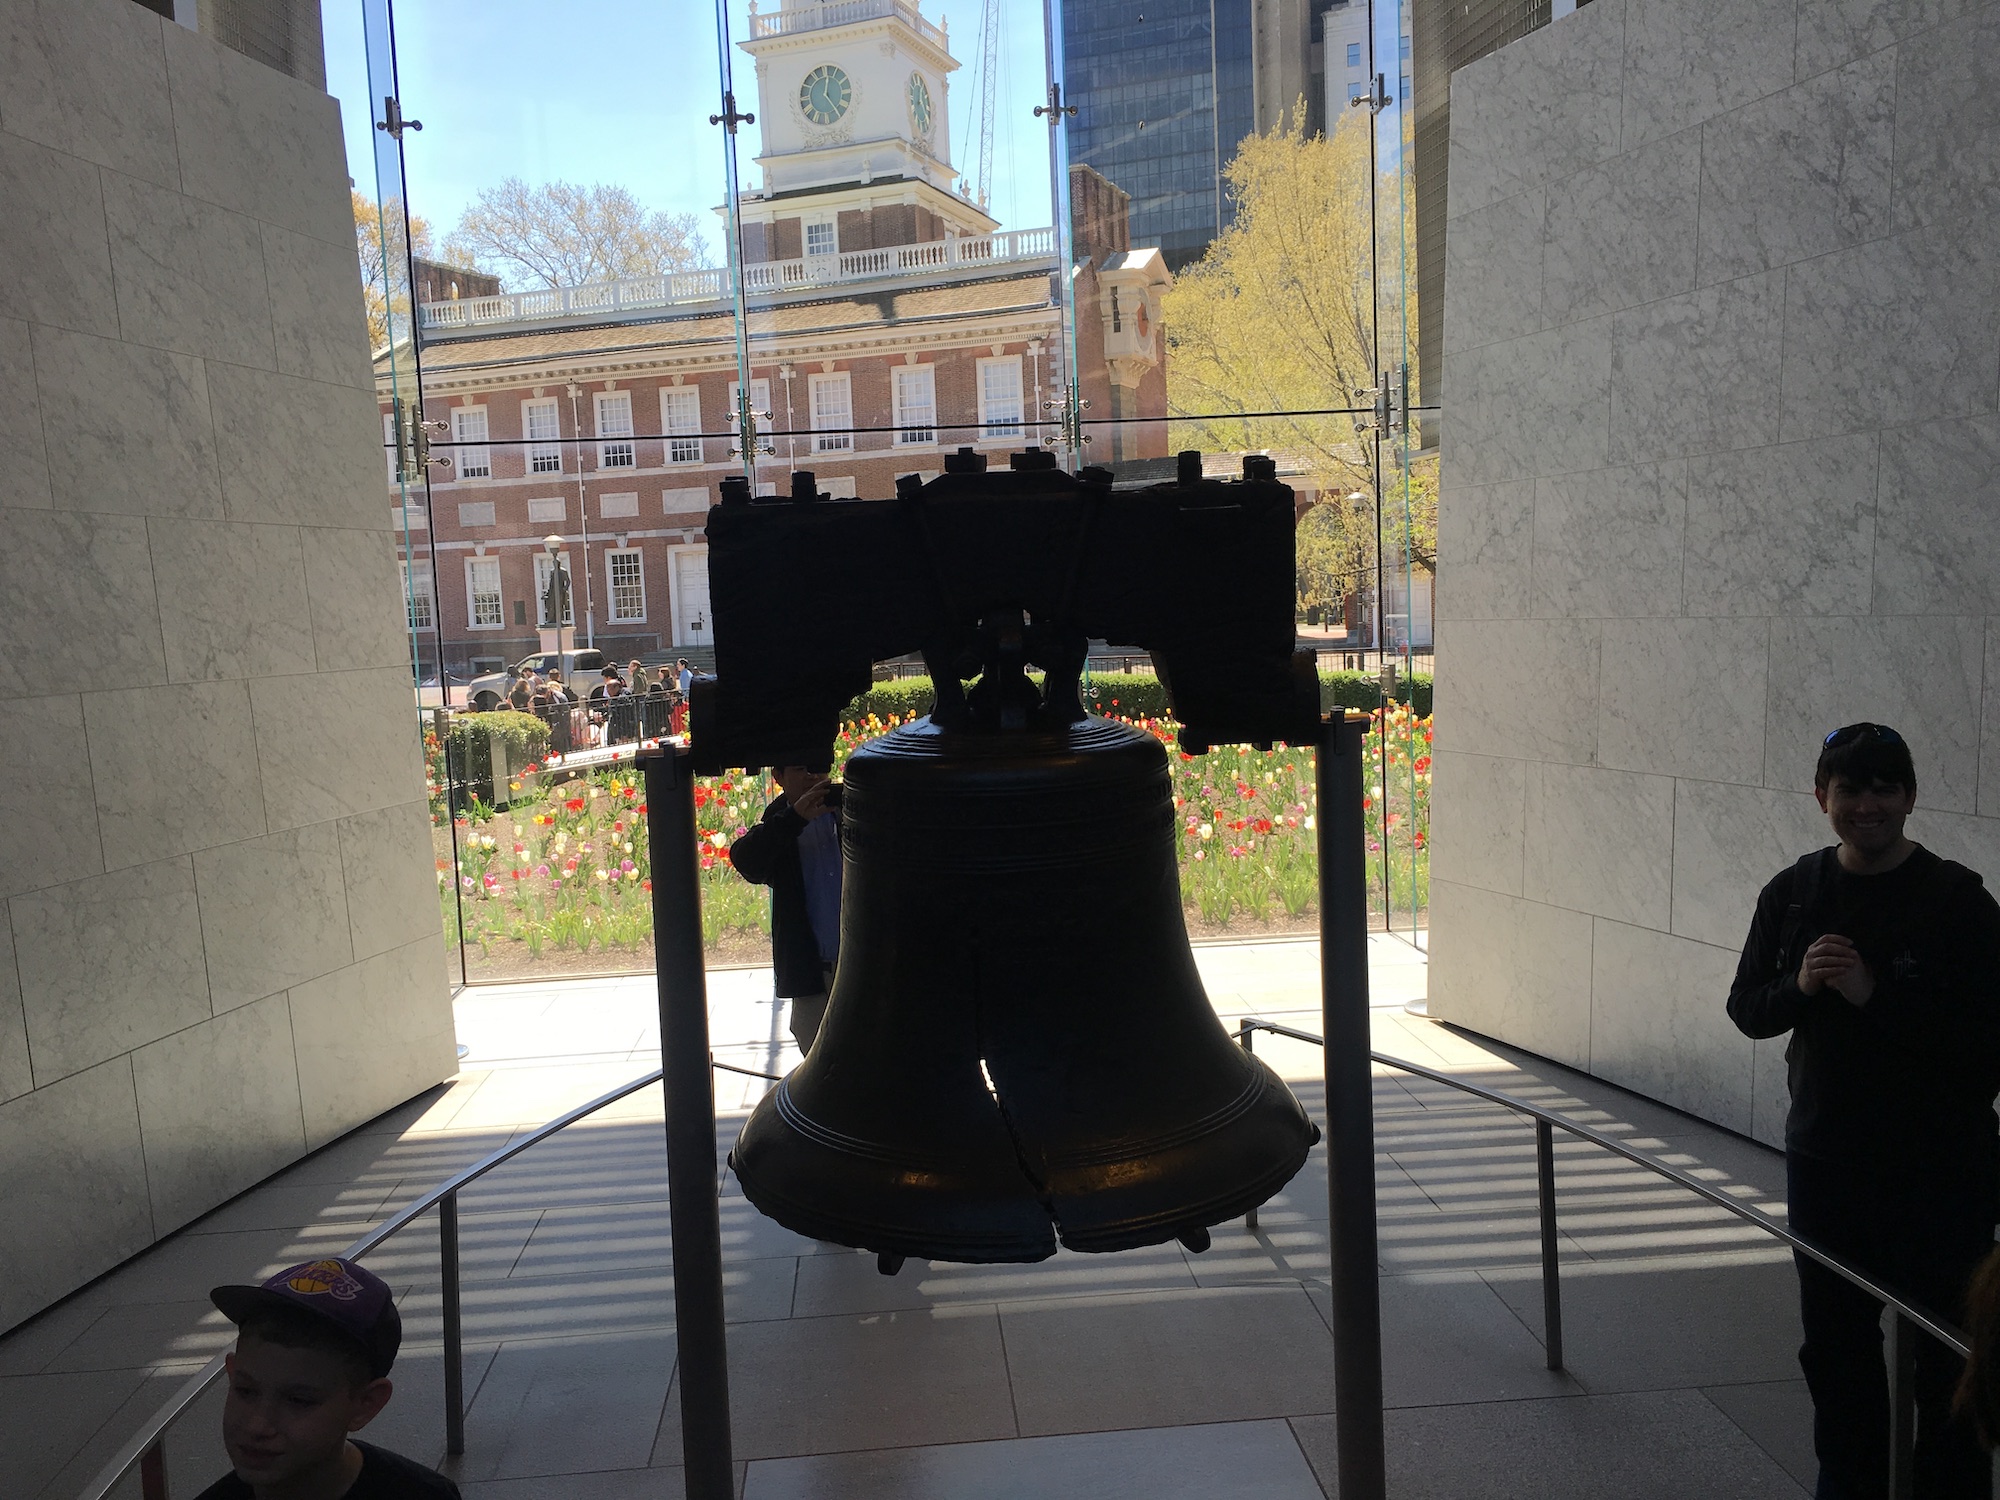
<instances>
[{"instance_id":1,"label":"marble panel in the top left corner of the left wall","mask_svg":"<svg viewBox=\"0 0 2000 1500\"><path fill-rule=\"evenodd\" d=\"M180 186L160 20L118 0L0 10L0 130Z\"/></svg>"}]
</instances>

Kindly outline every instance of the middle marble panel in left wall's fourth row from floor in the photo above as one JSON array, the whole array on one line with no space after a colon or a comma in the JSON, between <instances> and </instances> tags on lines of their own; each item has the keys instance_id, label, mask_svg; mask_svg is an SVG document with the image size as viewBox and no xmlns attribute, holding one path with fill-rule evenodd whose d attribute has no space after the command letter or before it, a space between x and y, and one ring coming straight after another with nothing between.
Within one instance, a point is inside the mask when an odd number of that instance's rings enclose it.
<instances>
[{"instance_id":1,"label":"middle marble panel in left wall's fourth row from floor","mask_svg":"<svg viewBox=\"0 0 2000 1500\"><path fill-rule=\"evenodd\" d=\"M172 682L312 670L298 528L154 520L148 532Z\"/></svg>"}]
</instances>

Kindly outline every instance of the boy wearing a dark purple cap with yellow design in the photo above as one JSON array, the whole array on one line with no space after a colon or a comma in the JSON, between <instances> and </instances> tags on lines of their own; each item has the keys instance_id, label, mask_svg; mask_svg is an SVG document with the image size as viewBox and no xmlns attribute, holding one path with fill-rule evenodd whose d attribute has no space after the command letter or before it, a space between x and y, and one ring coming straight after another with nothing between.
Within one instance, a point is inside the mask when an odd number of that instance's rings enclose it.
<instances>
[{"instance_id":1,"label":"boy wearing a dark purple cap with yellow design","mask_svg":"<svg viewBox=\"0 0 2000 1500\"><path fill-rule=\"evenodd\" d=\"M196 1500L458 1500L442 1474L356 1442L392 1392L402 1316L352 1260L308 1260L208 1300L236 1324L222 1406L234 1472Z\"/></svg>"}]
</instances>

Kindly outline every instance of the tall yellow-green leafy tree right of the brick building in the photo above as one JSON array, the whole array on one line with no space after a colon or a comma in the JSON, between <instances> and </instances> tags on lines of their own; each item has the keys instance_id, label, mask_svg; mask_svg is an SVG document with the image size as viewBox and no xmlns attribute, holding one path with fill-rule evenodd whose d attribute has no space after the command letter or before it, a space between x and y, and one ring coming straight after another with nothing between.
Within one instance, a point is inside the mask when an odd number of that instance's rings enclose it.
<instances>
[{"instance_id":1,"label":"tall yellow-green leafy tree right of the brick building","mask_svg":"<svg viewBox=\"0 0 2000 1500\"><path fill-rule=\"evenodd\" d=\"M1306 412L1368 404L1356 392L1376 384L1378 320L1382 362L1402 362L1406 348L1414 364L1416 276L1386 274L1380 308L1374 292L1376 234L1384 260L1400 258L1414 222L1392 176L1370 184L1364 114L1326 136L1306 134L1302 118L1304 102L1242 142L1224 172L1234 222L1180 272L1160 312L1174 446L1266 450L1302 472L1320 502L1300 522L1300 602L1330 608L1374 586L1374 440L1352 414ZM1382 490L1386 566L1408 556L1434 570L1436 460L1414 464L1404 484L1384 442Z\"/></svg>"}]
</instances>

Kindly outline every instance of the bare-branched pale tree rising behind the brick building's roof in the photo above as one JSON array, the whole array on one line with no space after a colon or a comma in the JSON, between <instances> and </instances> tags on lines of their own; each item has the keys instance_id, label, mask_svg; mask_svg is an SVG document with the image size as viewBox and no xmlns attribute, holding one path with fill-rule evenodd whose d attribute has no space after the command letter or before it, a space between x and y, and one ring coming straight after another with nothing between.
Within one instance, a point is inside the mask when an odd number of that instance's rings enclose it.
<instances>
[{"instance_id":1,"label":"bare-branched pale tree rising behind the brick building's roof","mask_svg":"<svg viewBox=\"0 0 2000 1500\"><path fill-rule=\"evenodd\" d=\"M708 260L708 242L694 214L648 212L626 188L530 188L508 178L480 192L446 236L444 258L522 290L696 270Z\"/></svg>"}]
</instances>

